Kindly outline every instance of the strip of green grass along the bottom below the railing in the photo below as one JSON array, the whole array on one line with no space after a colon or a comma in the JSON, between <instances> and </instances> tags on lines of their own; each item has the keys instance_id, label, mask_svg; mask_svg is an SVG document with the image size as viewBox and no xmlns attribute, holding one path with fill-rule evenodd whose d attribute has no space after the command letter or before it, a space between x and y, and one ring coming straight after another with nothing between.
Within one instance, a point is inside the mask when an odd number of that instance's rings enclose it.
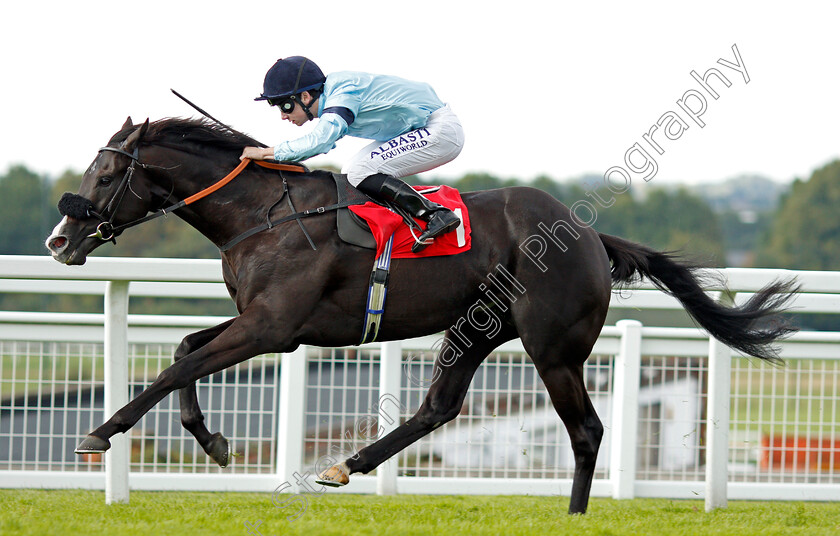
<instances>
[{"instance_id":1,"label":"strip of green grass along the bottom below the railing","mask_svg":"<svg viewBox=\"0 0 840 536\"><path fill-rule=\"evenodd\" d=\"M130 504L106 506L97 491L0 490L0 534L184 536L249 533L388 535L836 535L833 503L731 502L706 513L702 501L593 498L585 516L569 516L567 497L284 495L307 497L276 508L269 494L133 492ZM294 507L293 507L294 506Z\"/></svg>"}]
</instances>

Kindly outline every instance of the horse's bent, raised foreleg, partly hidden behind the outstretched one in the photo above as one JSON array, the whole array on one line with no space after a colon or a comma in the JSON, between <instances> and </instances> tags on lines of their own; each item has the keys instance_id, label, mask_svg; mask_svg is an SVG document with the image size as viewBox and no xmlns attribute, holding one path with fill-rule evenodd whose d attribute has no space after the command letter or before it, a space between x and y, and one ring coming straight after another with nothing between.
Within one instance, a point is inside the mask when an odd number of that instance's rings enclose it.
<instances>
[{"instance_id":1,"label":"horse's bent, raised foreleg, partly hidden behind the outstretched one","mask_svg":"<svg viewBox=\"0 0 840 536\"><path fill-rule=\"evenodd\" d=\"M196 351L208 342L215 339L221 332L226 330L228 326L233 323L233 319L213 326L212 328L204 329L196 333L191 333L184 337L178 349L175 350L175 361L180 360L184 356ZM198 405L198 395L196 394L195 382L178 390L178 398L181 403L181 424L189 430L189 432L204 449L214 462L220 467L227 467L230 463L231 449L228 440L221 434L216 432L211 434L204 425L204 415Z\"/></svg>"}]
</instances>

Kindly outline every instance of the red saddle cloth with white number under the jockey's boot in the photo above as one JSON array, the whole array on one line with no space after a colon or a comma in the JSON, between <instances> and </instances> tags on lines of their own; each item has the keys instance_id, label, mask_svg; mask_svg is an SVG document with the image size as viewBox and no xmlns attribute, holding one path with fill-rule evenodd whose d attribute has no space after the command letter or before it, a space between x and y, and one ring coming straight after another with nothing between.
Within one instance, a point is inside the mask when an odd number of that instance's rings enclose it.
<instances>
[{"instance_id":1,"label":"red saddle cloth with white number under the jockey's boot","mask_svg":"<svg viewBox=\"0 0 840 536\"><path fill-rule=\"evenodd\" d=\"M376 258L382 255L385 245L391 235L394 235L394 245L391 257L394 259L410 259L419 257L438 257L441 255L457 255L469 251L470 239L470 217L467 207L461 199L461 194L450 186L415 186L415 190L436 190L426 195L430 201L440 203L446 208L454 211L461 218L461 225L452 232L435 238L430 246L420 253L412 253L411 246L414 245L414 237L403 219L387 208L368 202L364 205L350 206L356 215L365 220L376 238ZM426 228L426 222L415 220L420 227ZM419 233L418 233L419 236Z\"/></svg>"}]
</instances>

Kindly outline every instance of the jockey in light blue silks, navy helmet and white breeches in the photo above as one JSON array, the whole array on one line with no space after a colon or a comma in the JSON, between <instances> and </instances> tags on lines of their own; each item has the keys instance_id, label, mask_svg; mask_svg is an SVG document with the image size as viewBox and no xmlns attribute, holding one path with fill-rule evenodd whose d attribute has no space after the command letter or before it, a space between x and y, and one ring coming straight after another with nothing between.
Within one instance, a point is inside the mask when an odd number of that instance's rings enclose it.
<instances>
[{"instance_id":1,"label":"jockey in light blue silks, navy helmet and white breeches","mask_svg":"<svg viewBox=\"0 0 840 536\"><path fill-rule=\"evenodd\" d=\"M399 179L441 166L461 152L464 132L449 106L428 84L362 72L324 76L315 63L290 56L265 75L255 100L277 106L298 126L318 117L309 134L275 147L246 147L241 159L297 162L326 153L344 136L374 140L341 170L347 180L427 222L412 251L461 223L451 210L433 203Z\"/></svg>"}]
</instances>

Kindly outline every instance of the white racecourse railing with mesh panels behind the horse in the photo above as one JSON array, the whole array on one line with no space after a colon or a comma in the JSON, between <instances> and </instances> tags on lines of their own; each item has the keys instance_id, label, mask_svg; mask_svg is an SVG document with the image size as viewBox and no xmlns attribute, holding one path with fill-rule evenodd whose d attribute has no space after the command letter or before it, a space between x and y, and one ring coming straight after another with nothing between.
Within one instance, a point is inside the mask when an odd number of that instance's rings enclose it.
<instances>
[{"instance_id":1,"label":"white racecourse railing with mesh panels behind the horse","mask_svg":"<svg viewBox=\"0 0 840 536\"><path fill-rule=\"evenodd\" d=\"M723 274L737 292L736 302L774 278L796 276L804 290L794 303L797 312L840 313L840 273L727 269ZM6 440L9 445L8 459L0 456L0 486L104 487L108 502L127 501L129 484L272 491L288 482L286 491L305 492L301 479L307 470L311 474L319 461L352 453L371 439L359 433L359 423L372 424L367 431L375 429L375 435L399 423L383 407L389 397L402 418L416 410L433 359L430 349L439 338L358 350L300 348L255 358L238 366L233 377L217 375L201 384L208 419L230 426L226 435L234 444L247 438L244 459L226 472L214 469L178 429L171 405L156 408L131 436L112 438L103 467L96 460L76 460L72 443L125 404L130 386L152 381L185 334L225 320L129 314L129 295L226 298L220 263L91 258L84 267L66 267L45 257L0 256L0 292L104 297L105 314L0 311L0 344L6 345L0 351L0 419L10 422L8 430L0 424L0 447ZM676 300L642 285L632 294L614 295L612 315L678 309ZM155 355L150 345L157 345ZM635 320L606 326L587 365L590 394L607 428L593 495L702 496L709 509L725 506L727 497L840 499L840 333L800 332L781 349L790 365L776 370L733 357L695 328L648 327ZM97 357L100 352L104 356ZM100 362L103 372L96 368ZM282 374L276 374L278 366ZM71 381L73 374L78 379ZM94 401L100 386L101 406ZM84 419L76 418L76 428L68 429L53 418L45 431L45 415L58 413L55 401L66 402L70 392L79 400L73 411ZM237 409L240 399L249 411ZM259 408L253 409L252 399L259 399ZM800 399L807 401L807 411L796 405L789 416L786 405ZM221 417L214 417L214 404ZM62 406L64 421L70 406ZM240 430L251 414L259 424ZM174 422L176 431L163 433L159 422L170 428ZM386 462L375 476L354 475L338 492L568 494L571 462L559 424L514 341L480 369L465 415ZM47 446L56 438L60 447ZM30 455L28 445L39 454Z\"/></svg>"}]
</instances>

